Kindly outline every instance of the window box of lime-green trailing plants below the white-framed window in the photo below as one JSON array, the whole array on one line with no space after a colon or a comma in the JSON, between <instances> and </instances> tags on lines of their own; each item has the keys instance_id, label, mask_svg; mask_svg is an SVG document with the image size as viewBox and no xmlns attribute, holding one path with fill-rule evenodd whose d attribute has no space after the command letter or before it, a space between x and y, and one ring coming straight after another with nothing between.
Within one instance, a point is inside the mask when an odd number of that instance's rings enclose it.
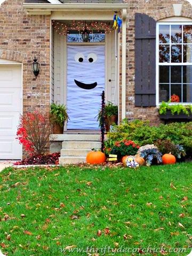
<instances>
[{"instance_id":1,"label":"window box of lime-green trailing plants below the white-framed window","mask_svg":"<svg viewBox=\"0 0 192 256\"><path fill-rule=\"evenodd\" d=\"M161 119L192 119L192 105L183 105L162 101L159 105L159 117Z\"/></svg>"}]
</instances>

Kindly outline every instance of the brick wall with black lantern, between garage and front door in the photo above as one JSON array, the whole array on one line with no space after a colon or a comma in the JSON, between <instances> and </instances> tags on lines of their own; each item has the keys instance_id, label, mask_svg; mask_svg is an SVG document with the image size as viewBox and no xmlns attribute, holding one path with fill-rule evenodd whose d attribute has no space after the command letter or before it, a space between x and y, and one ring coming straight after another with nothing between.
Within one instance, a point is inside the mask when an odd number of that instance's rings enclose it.
<instances>
[{"instance_id":1,"label":"brick wall with black lantern, between garage and front door","mask_svg":"<svg viewBox=\"0 0 192 256\"><path fill-rule=\"evenodd\" d=\"M49 111L50 16L27 15L23 2L8 0L0 6L0 58L23 63L23 113ZM41 64L37 78L31 69L35 56Z\"/></svg>"}]
</instances>

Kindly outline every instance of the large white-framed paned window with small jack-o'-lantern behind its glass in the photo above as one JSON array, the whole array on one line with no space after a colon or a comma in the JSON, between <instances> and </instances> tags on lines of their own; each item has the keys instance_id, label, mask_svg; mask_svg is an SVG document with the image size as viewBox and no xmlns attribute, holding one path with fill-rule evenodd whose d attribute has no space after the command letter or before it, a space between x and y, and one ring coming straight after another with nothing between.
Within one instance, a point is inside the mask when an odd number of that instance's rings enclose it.
<instances>
[{"instance_id":1,"label":"large white-framed paned window with small jack-o'-lantern behind its glass","mask_svg":"<svg viewBox=\"0 0 192 256\"><path fill-rule=\"evenodd\" d=\"M192 102L192 23L157 24L157 102Z\"/></svg>"}]
</instances>

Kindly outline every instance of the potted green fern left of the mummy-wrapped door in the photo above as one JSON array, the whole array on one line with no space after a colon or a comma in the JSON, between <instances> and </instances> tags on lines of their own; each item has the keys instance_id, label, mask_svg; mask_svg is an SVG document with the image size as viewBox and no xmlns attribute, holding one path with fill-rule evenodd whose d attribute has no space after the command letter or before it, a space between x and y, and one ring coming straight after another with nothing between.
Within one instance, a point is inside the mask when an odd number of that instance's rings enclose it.
<instances>
[{"instance_id":1,"label":"potted green fern left of the mummy-wrapped door","mask_svg":"<svg viewBox=\"0 0 192 256\"><path fill-rule=\"evenodd\" d=\"M66 105L52 103L50 108L50 122L53 125L54 134L62 134L65 122L68 121Z\"/></svg>"}]
</instances>

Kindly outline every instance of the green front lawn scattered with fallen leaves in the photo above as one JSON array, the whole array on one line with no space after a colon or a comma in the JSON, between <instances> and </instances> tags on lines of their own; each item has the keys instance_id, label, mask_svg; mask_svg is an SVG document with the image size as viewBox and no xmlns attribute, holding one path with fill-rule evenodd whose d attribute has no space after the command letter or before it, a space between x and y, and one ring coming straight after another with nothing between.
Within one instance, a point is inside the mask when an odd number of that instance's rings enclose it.
<instances>
[{"instance_id":1,"label":"green front lawn scattered with fallen leaves","mask_svg":"<svg viewBox=\"0 0 192 256\"><path fill-rule=\"evenodd\" d=\"M10 256L188 255L191 170L192 163L137 169L9 167L0 173L1 251Z\"/></svg>"}]
</instances>

